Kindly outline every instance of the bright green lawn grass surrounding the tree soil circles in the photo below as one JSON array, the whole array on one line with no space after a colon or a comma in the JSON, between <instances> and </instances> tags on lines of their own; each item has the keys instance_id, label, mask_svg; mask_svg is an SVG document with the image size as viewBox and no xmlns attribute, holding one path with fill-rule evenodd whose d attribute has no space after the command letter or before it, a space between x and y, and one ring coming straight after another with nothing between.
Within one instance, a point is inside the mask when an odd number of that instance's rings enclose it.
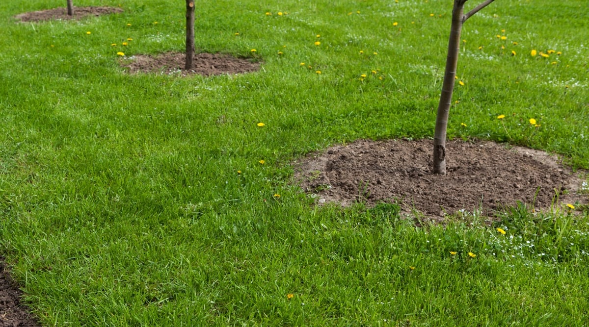
<instances>
[{"instance_id":1,"label":"bright green lawn grass surrounding the tree soil circles","mask_svg":"<svg viewBox=\"0 0 589 327\"><path fill-rule=\"evenodd\" d=\"M0 249L44 325L587 321L586 209L416 228L395 205L317 208L292 186L309 152L433 134L450 1L198 2L200 51L263 61L210 78L118 66L181 51L183 5L79 2L125 11L16 24L65 4L0 3ZM585 5L502 0L469 19L449 137L589 168Z\"/></svg>"}]
</instances>

